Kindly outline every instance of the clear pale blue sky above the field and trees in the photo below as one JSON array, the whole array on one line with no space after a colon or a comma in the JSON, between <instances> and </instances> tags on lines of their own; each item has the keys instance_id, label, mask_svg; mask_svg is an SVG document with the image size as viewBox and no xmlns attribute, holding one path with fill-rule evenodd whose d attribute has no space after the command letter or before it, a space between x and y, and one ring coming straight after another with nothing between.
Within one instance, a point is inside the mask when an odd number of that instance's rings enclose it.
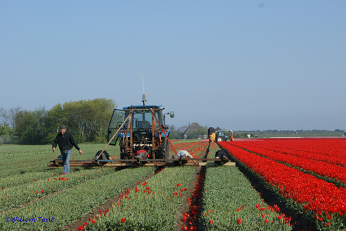
<instances>
[{"instance_id":1,"label":"clear pale blue sky above the field and trees","mask_svg":"<svg viewBox=\"0 0 346 231\"><path fill-rule=\"evenodd\" d=\"M346 1L0 0L0 107L96 98L168 124L345 129Z\"/></svg>"}]
</instances>

